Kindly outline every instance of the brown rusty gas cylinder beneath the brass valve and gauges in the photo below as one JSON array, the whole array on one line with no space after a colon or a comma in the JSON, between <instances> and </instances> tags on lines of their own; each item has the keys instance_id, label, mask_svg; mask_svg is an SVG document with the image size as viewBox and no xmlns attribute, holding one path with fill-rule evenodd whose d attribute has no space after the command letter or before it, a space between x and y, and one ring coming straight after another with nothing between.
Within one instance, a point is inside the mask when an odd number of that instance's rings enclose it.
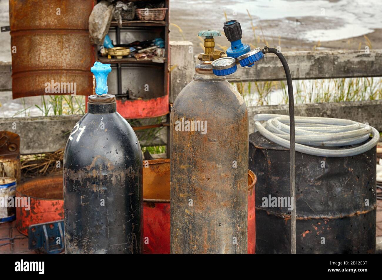
<instances>
[{"instance_id":1,"label":"brown rusty gas cylinder beneath the brass valve and gauges","mask_svg":"<svg viewBox=\"0 0 382 280\"><path fill-rule=\"evenodd\" d=\"M171 111L171 253L247 253L248 111L198 64Z\"/></svg>"}]
</instances>

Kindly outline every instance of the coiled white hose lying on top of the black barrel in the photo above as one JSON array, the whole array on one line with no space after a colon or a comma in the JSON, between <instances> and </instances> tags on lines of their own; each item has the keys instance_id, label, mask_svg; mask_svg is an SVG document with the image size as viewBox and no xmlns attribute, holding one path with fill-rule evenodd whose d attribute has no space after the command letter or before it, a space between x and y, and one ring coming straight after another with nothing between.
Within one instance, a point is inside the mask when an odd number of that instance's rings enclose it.
<instances>
[{"instance_id":1,"label":"coiled white hose lying on top of the black barrel","mask_svg":"<svg viewBox=\"0 0 382 280\"><path fill-rule=\"evenodd\" d=\"M255 127L265 138L290 147L289 116L277 114L257 114L254 116ZM261 124L260 121L266 121ZM325 157L355 156L370 150L379 140L379 132L374 127L347 119L329 117L295 117L296 151ZM361 146L342 149L325 149L311 146L348 146L362 143ZM309 145L309 146L307 146Z\"/></svg>"}]
</instances>

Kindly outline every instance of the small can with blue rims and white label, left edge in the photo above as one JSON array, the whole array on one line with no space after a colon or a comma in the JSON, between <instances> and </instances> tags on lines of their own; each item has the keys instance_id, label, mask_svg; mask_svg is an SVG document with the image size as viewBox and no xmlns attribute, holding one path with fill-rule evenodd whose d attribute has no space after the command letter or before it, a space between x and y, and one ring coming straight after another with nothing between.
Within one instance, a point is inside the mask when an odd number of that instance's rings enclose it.
<instances>
[{"instance_id":1,"label":"small can with blue rims and white label, left edge","mask_svg":"<svg viewBox=\"0 0 382 280\"><path fill-rule=\"evenodd\" d=\"M15 178L0 177L0 223L16 219L15 190Z\"/></svg>"}]
</instances>

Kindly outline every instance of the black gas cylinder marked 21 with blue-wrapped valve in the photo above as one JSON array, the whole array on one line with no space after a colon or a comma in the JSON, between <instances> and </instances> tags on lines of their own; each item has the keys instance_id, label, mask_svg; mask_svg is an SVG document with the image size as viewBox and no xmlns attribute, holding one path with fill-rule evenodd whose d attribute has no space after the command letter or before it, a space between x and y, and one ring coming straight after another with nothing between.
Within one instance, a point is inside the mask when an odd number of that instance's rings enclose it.
<instances>
[{"instance_id":1,"label":"black gas cylinder marked 21 with blue-wrapped valve","mask_svg":"<svg viewBox=\"0 0 382 280\"><path fill-rule=\"evenodd\" d=\"M110 64L97 81L64 155L65 253L141 253L142 152L133 129L107 94Z\"/></svg>"}]
</instances>

